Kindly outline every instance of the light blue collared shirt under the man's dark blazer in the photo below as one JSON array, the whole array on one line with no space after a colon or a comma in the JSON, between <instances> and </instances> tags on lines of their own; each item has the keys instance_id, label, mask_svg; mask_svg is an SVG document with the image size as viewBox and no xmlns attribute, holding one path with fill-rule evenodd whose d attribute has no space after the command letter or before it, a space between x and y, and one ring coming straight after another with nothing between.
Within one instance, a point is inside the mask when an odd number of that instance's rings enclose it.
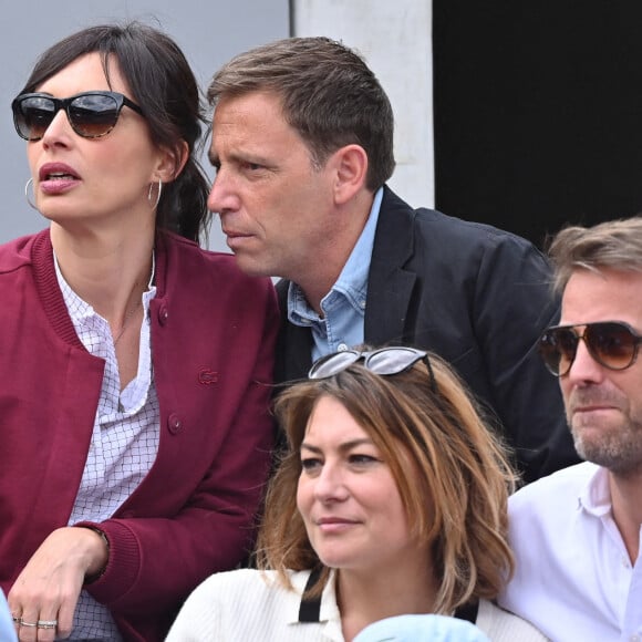
<instances>
[{"instance_id":1,"label":"light blue collared shirt under the man's dark blazer","mask_svg":"<svg viewBox=\"0 0 642 642\"><path fill-rule=\"evenodd\" d=\"M309 306L301 288L290 283L288 319L294 325L310 327L312 330L312 361L324 354L363 343L367 272L382 198L383 187L374 195L365 227L339 279L330 292L321 299L323 318Z\"/></svg>"}]
</instances>

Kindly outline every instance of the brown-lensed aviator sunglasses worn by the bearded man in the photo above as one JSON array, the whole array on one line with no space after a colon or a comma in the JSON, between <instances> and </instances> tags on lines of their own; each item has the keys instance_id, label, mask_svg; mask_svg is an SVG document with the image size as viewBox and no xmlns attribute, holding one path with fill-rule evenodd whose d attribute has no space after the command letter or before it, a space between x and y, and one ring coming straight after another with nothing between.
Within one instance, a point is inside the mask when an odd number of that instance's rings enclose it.
<instances>
[{"instance_id":1,"label":"brown-lensed aviator sunglasses worn by the bearded man","mask_svg":"<svg viewBox=\"0 0 642 642\"><path fill-rule=\"evenodd\" d=\"M589 354L609 370L625 370L633 365L642 343L642 336L621 321L549 328L539 339L538 349L552 374L568 374L580 340L587 344Z\"/></svg>"}]
</instances>

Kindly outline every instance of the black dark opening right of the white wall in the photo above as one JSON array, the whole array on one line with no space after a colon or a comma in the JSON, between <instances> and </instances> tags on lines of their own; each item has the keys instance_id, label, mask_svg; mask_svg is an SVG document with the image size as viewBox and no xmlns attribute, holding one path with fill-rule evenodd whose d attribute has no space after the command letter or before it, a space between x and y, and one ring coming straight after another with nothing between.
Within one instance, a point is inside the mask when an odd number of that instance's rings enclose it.
<instances>
[{"instance_id":1,"label":"black dark opening right of the white wall","mask_svg":"<svg viewBox=\"0 0 642 642\"><path fill-rule=\"evenodd\" d=\"M542 245L642 210L642 2L434 0L436 206Z\"/></svg>"}]
</instances>

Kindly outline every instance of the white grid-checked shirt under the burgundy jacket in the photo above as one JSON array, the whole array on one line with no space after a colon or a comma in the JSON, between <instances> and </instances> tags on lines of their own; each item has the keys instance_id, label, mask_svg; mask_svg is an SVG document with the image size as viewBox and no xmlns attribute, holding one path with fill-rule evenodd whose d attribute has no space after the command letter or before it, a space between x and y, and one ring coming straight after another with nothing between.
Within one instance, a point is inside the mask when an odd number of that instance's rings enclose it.
<instances>
[{"instance_id":1,"label":"white grid-checked shirt under the burgundy jacket","mask_svg":"<svg viewBox=\"0 0 642 642\"><path fill-rule=\"evenodd\" d=\"M161 410L152 373L149 301L156 296L153 277L143 293L138 371L121 392L118 363L108 322L83 301L64 280L55 260L55 273L76 334L94 356L105 361L99 407L81 485L69 519L104 521L138 487L158 452ZM106 607L82 591L70 640L118 641L121 635Z\"/></svg>"}]
</instances>

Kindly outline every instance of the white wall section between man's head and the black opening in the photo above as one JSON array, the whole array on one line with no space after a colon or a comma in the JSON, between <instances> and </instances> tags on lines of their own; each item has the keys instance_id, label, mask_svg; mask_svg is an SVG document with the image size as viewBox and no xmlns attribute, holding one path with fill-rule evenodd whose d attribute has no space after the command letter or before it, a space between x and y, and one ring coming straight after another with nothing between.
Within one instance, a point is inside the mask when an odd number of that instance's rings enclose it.
<instances>
[{"instance_id":1,"label":"white wall section between man's head and the black opening","mask_svg":"<svg viewBox=\"0 0 642 642\"><path fill-rule=\"evenodd\" d=\"M397 168L390 185L433 207L433 54L429 0L293 0L294 35L328 35L356 49L395 114Z\"/></svg>"}]
</instances>

